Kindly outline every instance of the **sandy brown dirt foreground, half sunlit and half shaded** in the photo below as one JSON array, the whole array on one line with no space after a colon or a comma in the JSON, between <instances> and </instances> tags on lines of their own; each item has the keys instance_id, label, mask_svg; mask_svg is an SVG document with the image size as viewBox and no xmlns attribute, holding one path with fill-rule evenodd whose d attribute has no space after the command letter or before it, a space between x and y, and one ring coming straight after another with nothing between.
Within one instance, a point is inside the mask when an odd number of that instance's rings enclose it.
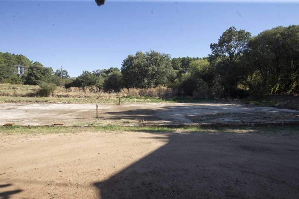
<instances>
[{"instance_id":1,"label":"sandy brown dirt foreground, half sunlit and half shaded","mask_svg":"<svg viewBox=\"0 0 299 199\"><path fill-rule=\"evenodd\" d=\"M299 198L299 130L250 132L0 134L0 198Z\"/></svg>"}]
</instances>

